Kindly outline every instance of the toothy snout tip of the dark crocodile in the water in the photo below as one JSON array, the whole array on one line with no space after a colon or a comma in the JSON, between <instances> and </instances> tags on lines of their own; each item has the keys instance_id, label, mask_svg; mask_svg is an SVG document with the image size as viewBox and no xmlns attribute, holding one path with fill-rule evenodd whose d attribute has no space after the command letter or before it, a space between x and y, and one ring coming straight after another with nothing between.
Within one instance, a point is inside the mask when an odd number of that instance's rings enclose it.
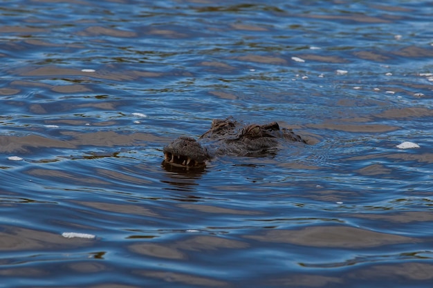
<instances>
[{"instance_id":1,"label":"toothy snout tip of the dark crocodile in the water","mask_svg":"<svg viewBox=\"0 0 433 288\"><path fill-rule=\"evenodd\" d=\"M210 160L208 151L191 137L178 137L164 147L166 164L173 166L201 167Z\"/></svg>"}]
</instances>

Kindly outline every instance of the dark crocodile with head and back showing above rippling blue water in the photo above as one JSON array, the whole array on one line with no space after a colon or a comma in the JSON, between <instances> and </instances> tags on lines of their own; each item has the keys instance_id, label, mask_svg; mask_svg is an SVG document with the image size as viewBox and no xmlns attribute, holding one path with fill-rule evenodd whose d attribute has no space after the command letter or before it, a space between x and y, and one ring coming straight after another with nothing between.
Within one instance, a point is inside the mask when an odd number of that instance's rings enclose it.
<instances>
[{"instance_id":1,"label":"dark crocodile with head and back showing above rippling blue water","mask_svg":"<svg viewBox=\"0 0 433 288\"><path fill-rule=\"evenodd\" d=\"M167 144L163 164L190 169L204 167L219 155L260 157L275 151L282 140L308 144L292 129L279 128L277 122L246 125L233 117L214 119L198 140L181 136Z\"/></svg>"}]
</instances>

